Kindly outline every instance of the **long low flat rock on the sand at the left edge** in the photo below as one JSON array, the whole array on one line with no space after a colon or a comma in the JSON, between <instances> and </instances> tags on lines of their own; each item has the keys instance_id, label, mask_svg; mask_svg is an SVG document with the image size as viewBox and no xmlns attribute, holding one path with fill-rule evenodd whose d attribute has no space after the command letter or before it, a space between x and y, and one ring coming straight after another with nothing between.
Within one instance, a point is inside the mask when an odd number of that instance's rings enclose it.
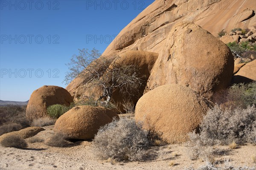
<instances>
[{"instance_id":1,"label":"long low flat rock on the sand at the left edge","mask_svg":"<svg viewBox=\"0 0 256 170\"><path fill-rule=\"evenodd\" d=\"M36 134L38 134L39 132L41 132L43 130L44 130L44 128L42 128L42 127L26 127L24 129L21 129L18 131L3 134L2 136L0 136L0 142L4 138L6 138L6 136L10 136L10 135L15 135L15 136L18 135L22 139L30 138L32 136L35 136Z\"/></svg>"}]
</instances>

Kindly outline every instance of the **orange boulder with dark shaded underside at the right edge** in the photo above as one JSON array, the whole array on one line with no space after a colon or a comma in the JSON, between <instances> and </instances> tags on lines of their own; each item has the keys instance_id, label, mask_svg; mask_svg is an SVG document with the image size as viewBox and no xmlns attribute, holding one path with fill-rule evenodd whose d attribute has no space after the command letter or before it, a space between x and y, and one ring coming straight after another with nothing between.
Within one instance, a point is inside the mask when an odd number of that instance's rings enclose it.
<instances>
[{"instance_id":1,"label":"orange boulder with dark shaded underside at the right edge","mask_svg":"<svg viewBox=\"0 0 256 170\"><path fill-rule=\"evenodd\" d=\"M256 60L247 63L233 76L233 83L256 81Z\"/></svg>"}]
</instances>

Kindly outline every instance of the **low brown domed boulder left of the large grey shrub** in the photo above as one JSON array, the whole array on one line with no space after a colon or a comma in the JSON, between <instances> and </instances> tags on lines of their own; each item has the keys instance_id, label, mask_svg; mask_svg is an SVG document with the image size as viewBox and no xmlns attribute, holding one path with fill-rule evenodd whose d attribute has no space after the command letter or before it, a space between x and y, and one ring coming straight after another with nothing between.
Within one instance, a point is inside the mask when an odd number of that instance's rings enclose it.
<instances>
[{"instance_id":1,"label":"low brown domed boulder left of the large grey shrub","mask_svg":"<svg viewBox=\"0 0 256 170\"><path fill-rule=\"evenodd\" d=\"M55 123L54 131L66 134L70 139L93 139L101 126L119 116L108 108L76 106L61 115Z\"/></svg>"}]
</instances>

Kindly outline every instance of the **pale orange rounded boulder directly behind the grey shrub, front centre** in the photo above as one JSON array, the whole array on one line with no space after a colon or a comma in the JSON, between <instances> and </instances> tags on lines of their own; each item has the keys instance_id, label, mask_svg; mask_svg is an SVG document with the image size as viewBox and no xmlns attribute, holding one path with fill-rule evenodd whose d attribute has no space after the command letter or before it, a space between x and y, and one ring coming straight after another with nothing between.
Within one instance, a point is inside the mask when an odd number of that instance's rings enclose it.
<instances>
[{"instance_id":1,"label":"pale orange rounded boulder directly behind the grey shrub, front centre","mask_svg":"<svg viewBox=\"0 0 256 170\"><path fill-rule=\"evenodd\" d=\"M182 85L163 85L144 94L136 105L135 120L148 129L154 125L170 143L188 140L189 132L198 128L207 113L209 102ZM148 123L149 122L149 123Z\"/></svg>"}]
</instances>

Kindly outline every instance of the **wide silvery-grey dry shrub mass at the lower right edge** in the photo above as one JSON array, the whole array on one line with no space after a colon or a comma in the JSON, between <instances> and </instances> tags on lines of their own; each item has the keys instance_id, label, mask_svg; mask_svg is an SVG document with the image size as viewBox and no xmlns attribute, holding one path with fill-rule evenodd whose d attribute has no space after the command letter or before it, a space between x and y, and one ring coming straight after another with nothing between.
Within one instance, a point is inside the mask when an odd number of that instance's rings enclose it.
<instances>
[{"instance_id":1,"label":"wide silvery-grey dry shrub mass at the lower right edge","mask_svg":"<svg viewBox=\"0 0 256 170\"><path fill-rule=\"evenodd\" d=\"M207 112L200 125L202 145L256 141L256 108L222 110L218 105ZM248 137L250 136L250 137ZM251 140L249 140L251 139Z\"/></svg>"}]
</instances>

